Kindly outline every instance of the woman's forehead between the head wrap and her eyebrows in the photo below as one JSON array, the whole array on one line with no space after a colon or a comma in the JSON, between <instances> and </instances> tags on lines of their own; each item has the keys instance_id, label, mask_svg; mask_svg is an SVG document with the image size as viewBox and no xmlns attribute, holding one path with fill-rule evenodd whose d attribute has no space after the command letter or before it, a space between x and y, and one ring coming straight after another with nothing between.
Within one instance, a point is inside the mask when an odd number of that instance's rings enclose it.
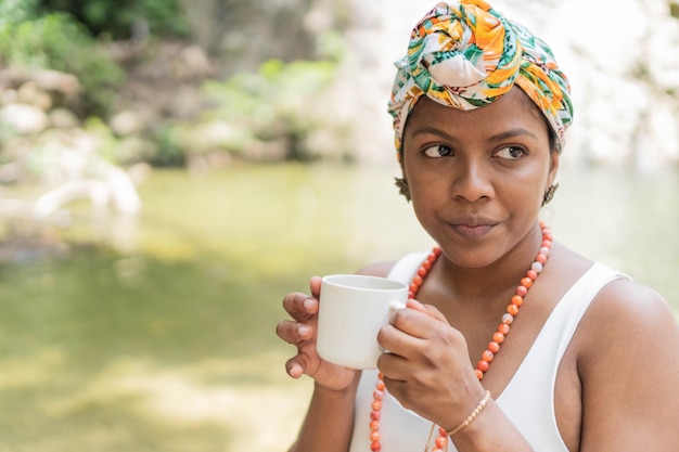
<instances>
[{"instance_id":1,"label":"woman's forehead between the head wrap and her eyebrows","mask_svg":"<svg viewBox=\"0 0 679 452\"><path fill-rule=\"evenodd\" d=\"M546 139L549 134L542 113L517 87L497 101L470 111L445 106L422 96L408 116L405 138L423 127L436 127L456 135L470 131L497 134L513 128L530 130Z\"/></svg>"}]
</instances>

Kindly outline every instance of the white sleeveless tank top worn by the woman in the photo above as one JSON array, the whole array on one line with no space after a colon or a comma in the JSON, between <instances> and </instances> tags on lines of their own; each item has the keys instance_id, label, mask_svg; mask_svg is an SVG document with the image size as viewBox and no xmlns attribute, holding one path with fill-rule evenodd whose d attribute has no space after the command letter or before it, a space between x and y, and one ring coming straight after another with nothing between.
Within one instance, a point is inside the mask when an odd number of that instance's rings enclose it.
<instances>
[{"instance_id":1,"label":"white sleeveless tank top worn by the woman","mask_svg":"<svg viewBox=\"0 0 679 452\"><path fill-rule=\"evenodd\" d=\"M406 256L396 263L388 277L410 283L425 257L426 253ZM622 277L627 276L594 263L554 307L521 366L496 400L534 450L567 452L554 414L559 364L594 296L606 283ZM363 371L356 395L349 452L370 451L370 404L376 379L377 371ZM385 396L380 423L384 452L423 450L431 427L431 422L402 408L390 395ZM448 451L457 452L451 441L448 441Z\"/></svg>"}]
</instances>

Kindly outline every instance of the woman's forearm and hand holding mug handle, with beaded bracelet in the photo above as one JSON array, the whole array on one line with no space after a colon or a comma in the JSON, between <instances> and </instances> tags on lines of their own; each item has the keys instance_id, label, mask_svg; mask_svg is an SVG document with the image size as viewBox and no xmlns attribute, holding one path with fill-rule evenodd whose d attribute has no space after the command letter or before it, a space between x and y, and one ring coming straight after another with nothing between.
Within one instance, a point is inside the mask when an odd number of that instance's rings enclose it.
<instances>
[{"instance_id":1,"label":"woman's forearm and hand holding mug handle, with beaded bracelet","mask_svg":"<svg viewBox=\"0 0 679 452\"><path fill-rule=\"evenodd\" d=\"M389 392L407 409L447 431L476 408L484 388L470 365L467 347L434 307L409 300L394 327L380 332L380 344L393 351L380 358ZM492 399L466 428L451 438L460 452L533 449Z\"/></svg>"}]
</instances>

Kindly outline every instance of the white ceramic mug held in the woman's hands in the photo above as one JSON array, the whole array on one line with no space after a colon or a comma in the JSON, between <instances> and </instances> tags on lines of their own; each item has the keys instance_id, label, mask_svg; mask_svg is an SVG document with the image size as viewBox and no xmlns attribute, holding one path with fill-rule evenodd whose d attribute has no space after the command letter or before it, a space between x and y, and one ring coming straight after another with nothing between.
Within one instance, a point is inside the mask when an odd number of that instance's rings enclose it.
<instances>
[{"instance_id":1,"label":"white ceramic mug held in the woman's hands","mask_svg":"<svg viewBox=\"0 0 679 452\"><path fill-rule=\"evenodd\" d=\"M350 369L376 369L385 350L377 333L408 300L408 285L385 277L333 274L323 277L317 351L325 361Z\"/></svg>"}]
</instances>

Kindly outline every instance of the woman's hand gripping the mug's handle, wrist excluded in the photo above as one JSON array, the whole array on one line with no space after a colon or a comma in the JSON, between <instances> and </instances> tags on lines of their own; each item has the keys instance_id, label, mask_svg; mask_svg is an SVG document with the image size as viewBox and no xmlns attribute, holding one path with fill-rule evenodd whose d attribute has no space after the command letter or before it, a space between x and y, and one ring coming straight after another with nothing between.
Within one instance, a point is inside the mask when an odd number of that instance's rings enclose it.
<instances>
[{"instance_id":1,"label":"woman's hand gripping the mug's handle, wrist excluded","mask_svg":"<svg viewBox=\"0 0 679 452\"><path fill-rule=\"evenodd\" d=\"M405 408L453 428L469 414L469 400L484 393L466 341L433 306L411 299L407 308L380 331L377 341L390 352L380 357L377 366L387 390Z\"/></svg>"}]
</instances>

